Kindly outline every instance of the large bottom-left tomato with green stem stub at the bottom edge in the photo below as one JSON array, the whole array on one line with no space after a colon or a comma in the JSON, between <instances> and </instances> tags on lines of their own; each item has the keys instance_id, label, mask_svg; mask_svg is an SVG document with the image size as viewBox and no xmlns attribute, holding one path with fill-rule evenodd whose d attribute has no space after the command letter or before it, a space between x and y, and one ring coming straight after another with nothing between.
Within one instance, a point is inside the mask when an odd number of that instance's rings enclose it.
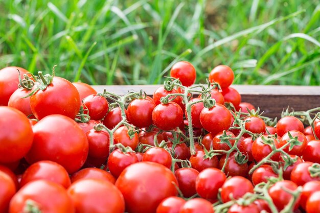
<instances>
[{"instance_id":1,"label":"large bottom-left tomato with green stem stub at the bottom edge","mask_svg":"<svg viewBox=\"0 0 320 213\"><path fill-rule=\"evenodd\" d=\"M48 180L35 180L22 187L10 201L9 212L24 212L30 201L33 201L41 213L75 212L73 202L65 188Z\"/></svg>"}]
</instances>

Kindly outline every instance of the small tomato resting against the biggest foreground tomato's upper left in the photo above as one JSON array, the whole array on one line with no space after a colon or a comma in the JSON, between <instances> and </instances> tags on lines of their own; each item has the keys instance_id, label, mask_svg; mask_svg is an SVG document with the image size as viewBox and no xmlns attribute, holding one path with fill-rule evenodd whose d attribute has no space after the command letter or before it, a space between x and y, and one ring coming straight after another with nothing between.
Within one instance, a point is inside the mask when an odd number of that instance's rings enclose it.
<instances>
[{"instance_id":1,"label":"small tomato resting against the biggest foreground tomato's upper left","mask_svg":"<svg viewBox=\"0 0 320 213\"><path fill-rule=\"evenodd\" d=\"M116 149L109 155L108 168L111 174L117 178L125 168L136 162L139 162L139 160L134 152L124 153Z\"/></svg>"}]
</instances>

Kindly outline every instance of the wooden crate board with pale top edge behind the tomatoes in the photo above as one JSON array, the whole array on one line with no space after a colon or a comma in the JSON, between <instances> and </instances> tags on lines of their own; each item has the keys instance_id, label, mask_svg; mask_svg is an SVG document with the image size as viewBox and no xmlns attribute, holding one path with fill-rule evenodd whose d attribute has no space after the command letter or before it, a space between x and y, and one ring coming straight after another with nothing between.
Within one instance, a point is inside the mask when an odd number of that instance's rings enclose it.
<instances>
[{"instance_id":1,"label":"wooden crate board with pale top edge behind the tomatoes","mask_svg":"<svg viewBox=\"0 0 320 213\"><path fill-rule=\"evenodd\" d=\"M98 85L97 92L106 89L109 92L124 95L128 91L143 89L149 96L161 85ZM295 111L304 111L320 107L320 86L280 86L280 85L233 85L242 97L242 102L252 103L264 111L263 115L280 117L288 106Z\"/></svg>"}]
</instances>

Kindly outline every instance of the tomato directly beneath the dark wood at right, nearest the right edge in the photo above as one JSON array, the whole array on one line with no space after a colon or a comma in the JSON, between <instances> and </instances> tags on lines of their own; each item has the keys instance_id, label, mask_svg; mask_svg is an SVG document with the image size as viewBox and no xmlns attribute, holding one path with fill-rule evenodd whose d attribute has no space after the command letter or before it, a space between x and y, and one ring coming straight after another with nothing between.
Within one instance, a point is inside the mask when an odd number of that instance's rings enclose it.
<instances>
[{"instance_id":1,"label":"tomato directly beneath the dark wood at right, nearest the right edge","mask_svg":"<svg viewBox=\"0 0 320 213\"><path fill-rule=\"evenodd\" d=\"M280 137L291 130L304 132L305 128L303 126L303 123L294 116L285 116L278 121L277 133Z\"/></svg>"}]
</instances>

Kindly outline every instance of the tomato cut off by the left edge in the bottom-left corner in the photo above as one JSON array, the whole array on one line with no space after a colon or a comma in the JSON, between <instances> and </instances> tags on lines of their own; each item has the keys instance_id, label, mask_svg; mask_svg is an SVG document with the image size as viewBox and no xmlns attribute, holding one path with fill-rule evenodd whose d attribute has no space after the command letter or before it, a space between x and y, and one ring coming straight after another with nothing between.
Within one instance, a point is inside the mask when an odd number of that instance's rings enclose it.
<instances>
[{"instance_id":1,"label":"tomato cut off by the left edge in the bottom-left corner","mask_svg":"<svg viewBox=\"0 0 320 213\"><path fill-rule=\"evenodd\" d=\"M11 177L0 171L0 212L8 212L9 202L16 190Z\"/></svg>"}]
</instances>

